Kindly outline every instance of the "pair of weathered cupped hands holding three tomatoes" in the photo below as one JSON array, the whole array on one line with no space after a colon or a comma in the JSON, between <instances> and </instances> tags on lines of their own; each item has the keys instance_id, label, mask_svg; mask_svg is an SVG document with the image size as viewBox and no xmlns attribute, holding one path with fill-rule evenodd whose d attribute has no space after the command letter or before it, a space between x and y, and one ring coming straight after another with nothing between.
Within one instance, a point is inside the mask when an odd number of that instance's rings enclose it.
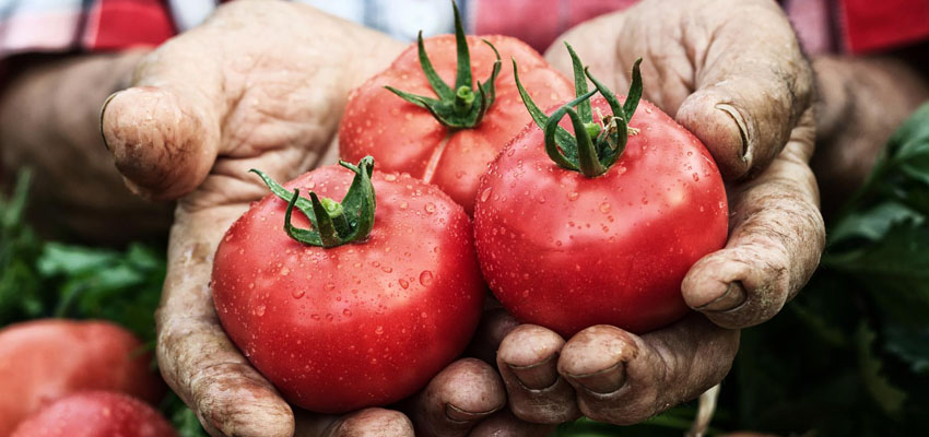
<instances>
[{"instance_id":1,"label":"pair of weathered cupped hands holding three tomatoes","mask_svg":"<svg viewBox=\"0 0 929 437\"><path fill-rule=\"evenodd\" d=\"M739 329L805 283L823 248L813 152L813 78L767 0L645 0L569 31L591 72L626 90L644 58L645 98L694 132L727 181L726 247L682 284L694 312L643 335L597 326L563 339L489 306L469 347L398 410L342 416L292 409L223 332L210 294L223 233L287 180L334 160L350 90L407 47L284 2L236 1L148 55L102 113L127 185L177 199L157 311L168 385L214 436L538 436L580 415L634 424L720 382ZM569 75L561 43L545 55ZM401 413L402 411L402 413Z\"/></svg>"}]
</instances>

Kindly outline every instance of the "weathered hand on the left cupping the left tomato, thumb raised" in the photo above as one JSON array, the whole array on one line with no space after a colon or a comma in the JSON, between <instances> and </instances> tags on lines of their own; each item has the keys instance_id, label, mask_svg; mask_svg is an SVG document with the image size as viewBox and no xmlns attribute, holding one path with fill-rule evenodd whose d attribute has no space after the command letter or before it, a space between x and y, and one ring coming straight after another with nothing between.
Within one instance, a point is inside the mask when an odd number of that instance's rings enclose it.
<instances>
[{"instance_id":1,"label":"weathered hand on the left cupping the left tomato, thumb raised","mask_svg":"<svg viewBox=\"0 0 929 437\"><path fill-rule=\"evenodd\" d=\"M332 161L349 90L404 47L306 5L237 1L146 56L133 87L104 107L103 133L127 185L177 199L156 353L165 380L214 436L413 435L398 411L292 410L225 335L209 287L223 233L267 193L247 170L287 180ZM461 436L505 401L496 371L466 358L404 406L422 433Z\"/></svg>"}]
</instances>

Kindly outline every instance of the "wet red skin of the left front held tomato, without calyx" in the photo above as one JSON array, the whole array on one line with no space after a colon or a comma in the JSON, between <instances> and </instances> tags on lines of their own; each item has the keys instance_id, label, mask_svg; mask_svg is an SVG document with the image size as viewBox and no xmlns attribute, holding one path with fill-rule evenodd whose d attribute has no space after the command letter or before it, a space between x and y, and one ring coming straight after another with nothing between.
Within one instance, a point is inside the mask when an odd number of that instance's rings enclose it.
<instances>
[{"instance_id":1,"label":"wet red skin of the left front held tomato, without calyx","mask_svg":"<svg viewBox=\"0 0 929 437\"><path fill-rule=\"evenodd\" d=\"M318 168L285 185L340 200L352 174ZM283 231L286 202L266 197L226 233L213 298L233 342L290 402L341 413L403 399L467 345L485 286L471 222L409 175L372 178L367 240L304 246ZM307 228L296 212L294 224Z\"/></svg>"}]
</instances>

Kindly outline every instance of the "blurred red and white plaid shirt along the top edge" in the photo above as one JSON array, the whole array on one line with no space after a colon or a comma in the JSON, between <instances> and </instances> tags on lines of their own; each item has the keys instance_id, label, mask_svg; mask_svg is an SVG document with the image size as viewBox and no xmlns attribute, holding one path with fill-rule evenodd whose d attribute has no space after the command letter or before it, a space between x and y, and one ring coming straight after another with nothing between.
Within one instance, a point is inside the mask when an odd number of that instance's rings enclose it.
<instances>
[{"instance_id":1,"label":"blurred red and white plaid shirt along the top edge","mask_svg":"<svg viewBox=\"0 0 929 437\"><path fill-rule=\"evenodd\" d=\"M0 0L0 60L26 51L155 46L221 0ZM399 39L451 32L447 0L303 0ZM544 49L571 26L637 0L458 0L467 27ZM874 51L929 38L929 0L781 0L805 48ZM836 24L838 27L835 27Z\"/></svg>"}]
</instances>

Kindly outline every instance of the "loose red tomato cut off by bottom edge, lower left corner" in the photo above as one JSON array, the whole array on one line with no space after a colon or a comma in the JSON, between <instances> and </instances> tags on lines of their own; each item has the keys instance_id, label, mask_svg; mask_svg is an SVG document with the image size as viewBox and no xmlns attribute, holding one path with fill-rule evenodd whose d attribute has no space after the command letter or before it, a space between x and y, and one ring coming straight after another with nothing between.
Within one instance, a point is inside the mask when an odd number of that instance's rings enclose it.
<instances>
[{"instance_id":1,"label":"loose red tomato cut off by bottom edge, lower left corner","mask_svg":"<svg viewBox=\"0 0 929 437\"><path fill-rule=\"evenodd\" d=\"M12 437L177 437L144 402L117 392L61 398L23 421Z\"/></svg>"}]
</instances>

